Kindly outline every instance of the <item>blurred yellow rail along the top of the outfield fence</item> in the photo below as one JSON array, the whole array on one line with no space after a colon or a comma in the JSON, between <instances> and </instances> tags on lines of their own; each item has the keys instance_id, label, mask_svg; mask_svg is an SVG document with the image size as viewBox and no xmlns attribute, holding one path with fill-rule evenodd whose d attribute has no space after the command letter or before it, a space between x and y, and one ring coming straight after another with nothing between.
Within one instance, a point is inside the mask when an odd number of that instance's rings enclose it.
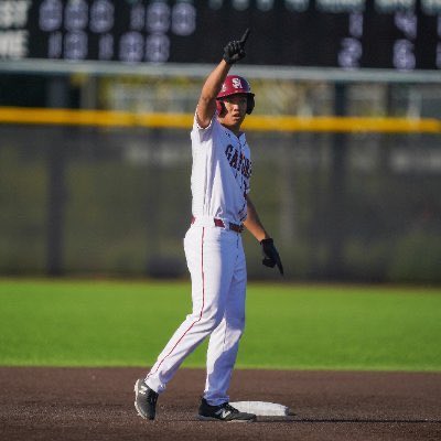
<instances>
[{"instance_id":1,"label":"blurred yellow rail along the top of the outfield fence","mask_svg":"<svg viewBox=\"0 0 441 441\"><path fill-rule=\"evenodd\" d=\"M72 110L46 108L0 107L0 123L149 127L187 129L192 114L137 114L108 110ZM247 117L244 129L281 132L390 132L441 133L441 120L434 118L368 118L368 117Z\"/></svg>"}]
</instances>

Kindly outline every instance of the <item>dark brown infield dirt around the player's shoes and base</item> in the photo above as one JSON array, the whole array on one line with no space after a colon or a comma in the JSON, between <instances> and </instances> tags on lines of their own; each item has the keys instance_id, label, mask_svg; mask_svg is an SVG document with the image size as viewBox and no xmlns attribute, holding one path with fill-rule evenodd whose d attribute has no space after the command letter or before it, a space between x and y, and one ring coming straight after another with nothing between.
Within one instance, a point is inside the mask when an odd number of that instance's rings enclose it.
<instances>
[{"instance_id":1,"label":"dark brown infield dirt around the player's shoes and base","mask_svg":"<svg viewBox=\"0 0 441 441\"><path fill-rule=\"evenodd\" d=\"M235 370L232 401L289 406L254 423L196 419L204 372L181 369L139 418L144 368L0 367L1 440L441 440L441 374Z\"/></svg>"}]
</instances>

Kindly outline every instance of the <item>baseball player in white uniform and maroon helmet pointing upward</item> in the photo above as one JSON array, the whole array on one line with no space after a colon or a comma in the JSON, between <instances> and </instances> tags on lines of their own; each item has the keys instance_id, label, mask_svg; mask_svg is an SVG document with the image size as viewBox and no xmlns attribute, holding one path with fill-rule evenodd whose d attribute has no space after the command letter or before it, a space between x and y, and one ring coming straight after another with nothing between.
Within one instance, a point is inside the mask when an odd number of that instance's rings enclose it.
<instances>
[{"instance_id":1,"label":"baseball player in white uniform and maroon helmet pointing upward","mask_svg":"<svg viewBox=\"0 0 441 441\"><path fill-rule=\"evenodd\" d=\"M209 336L201 420L254 421L232 407L227 394L245 325L247 270L244 226L261 244L262 263L283 273L273 240L259 220L250 190L250 149L240 126L255 106L248 82L228 75L245 56L249 30L229 42L197 103L192 139L192 213L184 250L192 278L192 313L178 327L146 378L135 385L138 413L153 420L158 396L179 366Z\"/></svg>"}]
</instances>

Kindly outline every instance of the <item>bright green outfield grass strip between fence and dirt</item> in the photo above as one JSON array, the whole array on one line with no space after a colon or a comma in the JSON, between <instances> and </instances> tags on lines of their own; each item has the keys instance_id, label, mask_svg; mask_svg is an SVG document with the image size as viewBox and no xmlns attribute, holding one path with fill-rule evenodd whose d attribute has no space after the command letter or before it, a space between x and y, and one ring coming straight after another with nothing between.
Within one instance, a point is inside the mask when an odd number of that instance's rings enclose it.
<instances>
[{"instance_id":1,"label":"bright green outfield grass strip between fence and dirt","mask_svg":"<svg viewBox=\"0 0 441 441\"><path fill-rule=\"evenodd\" d=\"M187 282L0 279L0 365L150 366L190 310ZM441 370L440 342L441 289L251 283L237 366Z\"/></svg>"}]
</instances>

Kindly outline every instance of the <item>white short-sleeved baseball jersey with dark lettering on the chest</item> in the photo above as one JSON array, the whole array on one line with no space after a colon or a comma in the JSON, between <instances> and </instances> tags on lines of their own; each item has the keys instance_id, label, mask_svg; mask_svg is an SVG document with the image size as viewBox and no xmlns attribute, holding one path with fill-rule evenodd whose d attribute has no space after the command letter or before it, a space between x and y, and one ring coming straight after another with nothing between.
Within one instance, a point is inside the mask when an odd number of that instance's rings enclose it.
<instances>
[{"instance_id":1,"label":"white short-sleeved baseball jersey with dark lettering on the chest","mask_svg":"<svg viewBox=\"0 0 441 441\"><path fill-rule=\"evenodd\" d=\"M240 224L247 217L246 194L251 175L245 133L236 137L214 116L205 129L195 118L191 138L193 216Z\"/></svg>"}]
</instances>

